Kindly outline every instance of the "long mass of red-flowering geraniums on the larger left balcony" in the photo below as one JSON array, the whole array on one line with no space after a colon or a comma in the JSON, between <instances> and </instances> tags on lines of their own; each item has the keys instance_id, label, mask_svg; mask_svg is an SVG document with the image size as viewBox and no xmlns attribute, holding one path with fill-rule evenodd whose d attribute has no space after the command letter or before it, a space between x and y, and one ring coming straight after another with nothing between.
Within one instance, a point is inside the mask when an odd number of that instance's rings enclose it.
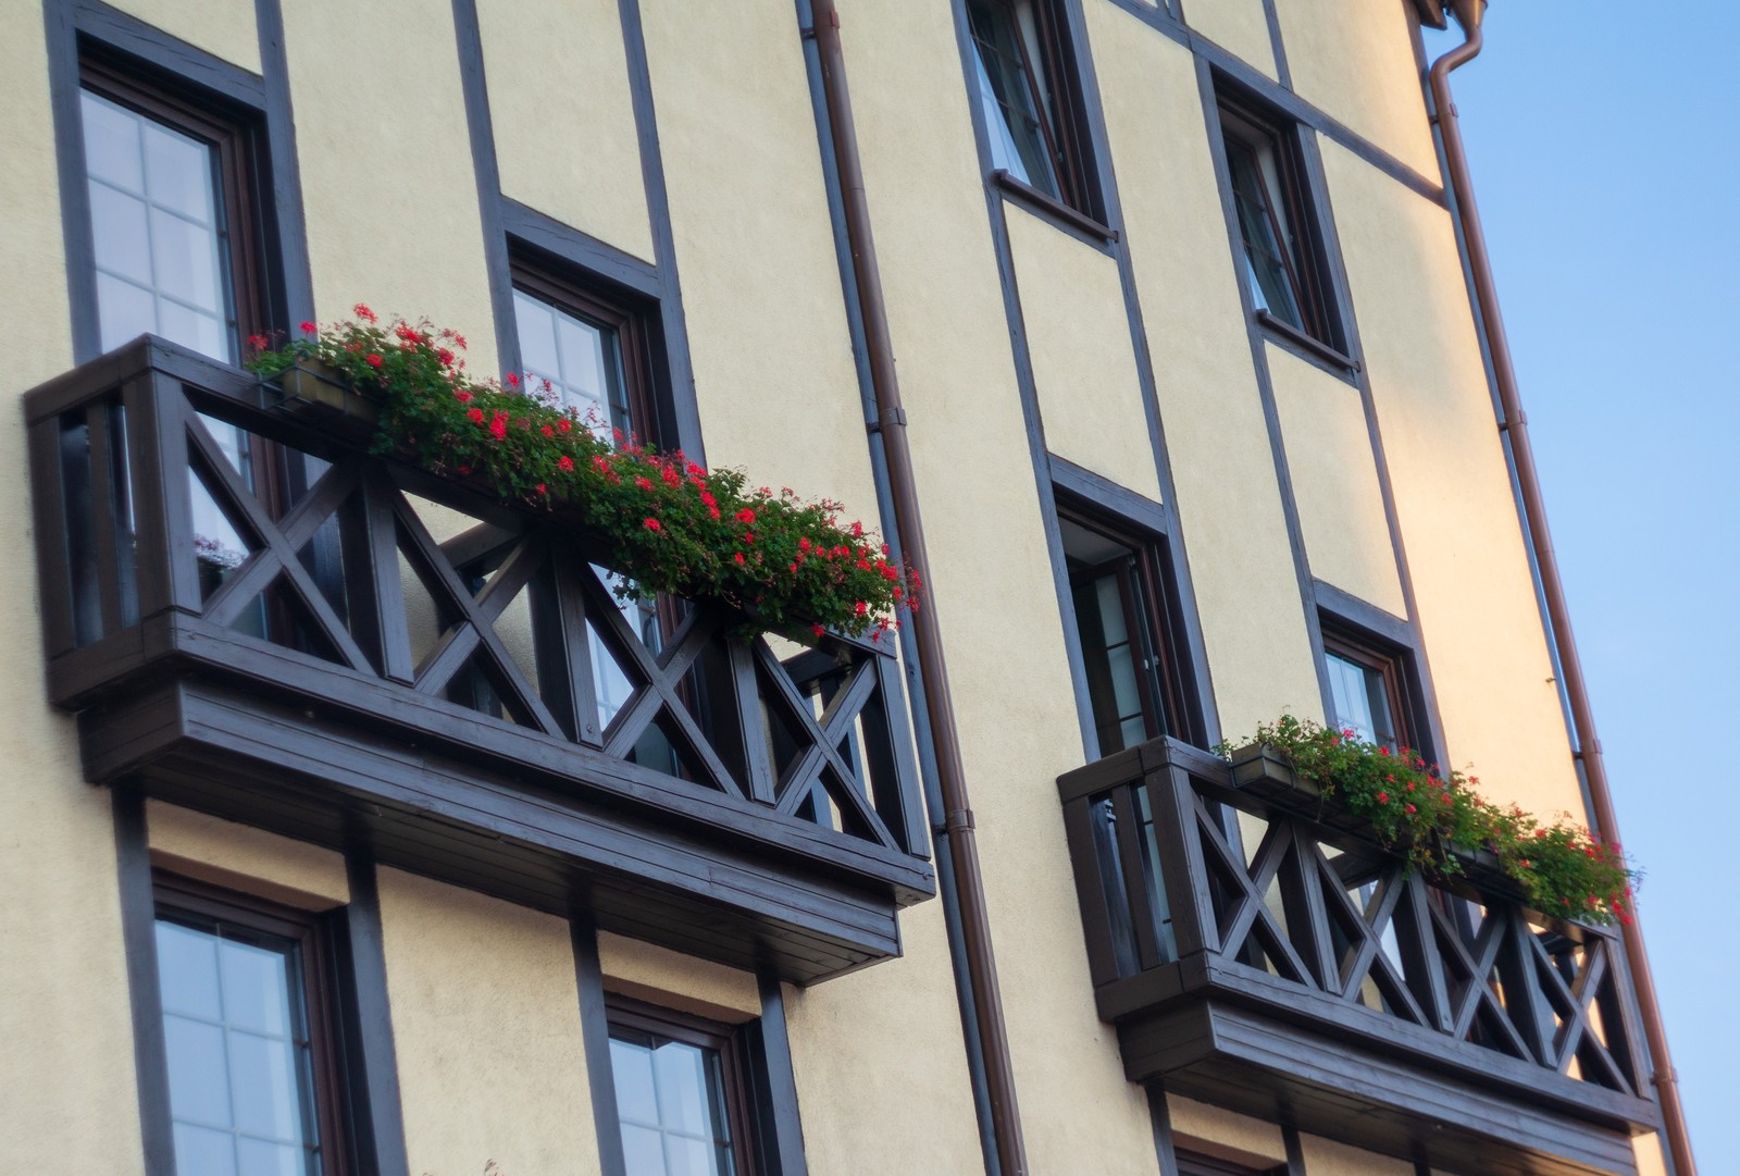
<instances>
[{"instance_id":1,"label":"long mass of red-flowering geraniums on the larger left balcony","mask_svg":"<svg viewBox=\"0 0 1740 1176\"><path fill-rule=\"evenodd\" d=\"M432 473L480 482L506 501L572 513L611 548L626 597L675 593L724 600L753 628L826 628L879 640L917 609L917 576L840 504L790 489L752 489L741 470L706 470L661 454L555 402L548 381L466 372L466 339L428 320L355 317L270 348L249 339L249 371L273 378L298 364L336 369L378 398L372 449Z\"/></svg>"}]
</instances>

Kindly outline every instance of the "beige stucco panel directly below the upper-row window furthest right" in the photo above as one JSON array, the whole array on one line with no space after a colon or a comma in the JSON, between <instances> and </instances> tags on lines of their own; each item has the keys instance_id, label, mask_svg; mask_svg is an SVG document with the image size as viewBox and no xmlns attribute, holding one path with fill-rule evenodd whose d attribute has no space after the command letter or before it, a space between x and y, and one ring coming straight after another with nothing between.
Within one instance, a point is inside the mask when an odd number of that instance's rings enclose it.
<instances>
[{"instance_id":1,"label":"beige stucco panel directly below the upper-row window furthest right","mask_svg":"<svg viewBox=\"0 0 1740 1176\"><path fill-rule=\"evenodd\" d=\"M1359 388L1279 346L1267 350L1312 576L1406 616Z\"/></svg>"}]
</instances>

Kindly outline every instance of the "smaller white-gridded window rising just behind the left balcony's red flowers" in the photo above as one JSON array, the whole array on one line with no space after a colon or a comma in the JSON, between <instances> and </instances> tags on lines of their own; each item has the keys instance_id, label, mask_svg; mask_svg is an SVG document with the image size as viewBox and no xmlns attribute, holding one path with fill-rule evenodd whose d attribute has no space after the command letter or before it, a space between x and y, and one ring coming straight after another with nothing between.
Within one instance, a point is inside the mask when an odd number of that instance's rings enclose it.
<instances>
[{"instance_id":1,"label":"smaller white-gridded window rising just behind the left balcony's red flowers","mask_svg":"<svg viewBox=\"0 0 1740 1176\"><path fill-rule=\"evenodd\" d=\"M517 266L513 318L520 365L609 437L658 440L644 317L593 289ZM539 384L541 386L541 384Z\"/></svg>"}]
</instances>

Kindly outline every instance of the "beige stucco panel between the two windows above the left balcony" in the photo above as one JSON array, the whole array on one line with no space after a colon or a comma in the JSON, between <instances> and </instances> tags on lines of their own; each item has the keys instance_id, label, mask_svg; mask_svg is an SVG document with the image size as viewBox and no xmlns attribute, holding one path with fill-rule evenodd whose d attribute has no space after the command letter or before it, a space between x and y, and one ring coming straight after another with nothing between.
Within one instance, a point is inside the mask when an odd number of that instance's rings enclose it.
<instances>
[{"instance_id":1,"label":"beige stucco panel between the two windows above the left balcony","mask_svg":"<svg viewBox=\"0 0 1740 1176\"><path fill-rule=\"evenodd\" d=\"M308 264L320 318L428 315L494 374L484 226L452 5L284 5ZM390 47L390 50L383 50Z\"/></svg>"}]
</instances>

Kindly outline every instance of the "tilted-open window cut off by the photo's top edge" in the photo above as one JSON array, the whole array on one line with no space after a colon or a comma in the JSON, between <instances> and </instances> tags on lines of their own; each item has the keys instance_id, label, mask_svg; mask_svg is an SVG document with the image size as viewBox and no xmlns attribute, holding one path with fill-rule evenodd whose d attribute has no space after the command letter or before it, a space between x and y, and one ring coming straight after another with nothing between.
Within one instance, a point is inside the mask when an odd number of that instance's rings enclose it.
<instances>
[{"instance_id":1,"label":"tilted-open window cut off by the photo's top edge","mask_svg":"<svg viewBox=\"0 0 1740 1176\"><path fill-rule=\"evenodd\" d=\"M967 0L990 158L1023 184L1100 216L1061 17L1054 0Z\"/></svg>"}]
</instances>

